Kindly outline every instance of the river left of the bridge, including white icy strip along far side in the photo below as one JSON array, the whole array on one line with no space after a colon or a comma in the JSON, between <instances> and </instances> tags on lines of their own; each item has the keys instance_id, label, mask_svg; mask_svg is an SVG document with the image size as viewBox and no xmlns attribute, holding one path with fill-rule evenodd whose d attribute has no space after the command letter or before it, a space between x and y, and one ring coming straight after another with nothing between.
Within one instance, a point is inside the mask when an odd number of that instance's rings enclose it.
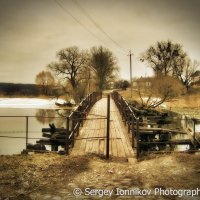
<instances>
[{"instance_id":1,"label":"river left of the bridge, including white icy strip along far side","mask_svg":"<svg viewBox=\"0 0 200 200\"><path fill-rule=\"evenodd\" d=\"M26 136L26 116L29 116L29 138L42 138L42 128L48 128L49 123L54 123L56 127L65 127L65 118L62 117L66 116L65 110L58 109L50 101L39 102L30 99L29 102L25 99L22 101L19 99L18 101L13 99L0 101L0 155L20 154L25 149L25 138L18 137ZM43 107L45 109L41 109ZM29 139L28 143L35 144L36 140L38 139Z\"/></svg>"}]
</instances>

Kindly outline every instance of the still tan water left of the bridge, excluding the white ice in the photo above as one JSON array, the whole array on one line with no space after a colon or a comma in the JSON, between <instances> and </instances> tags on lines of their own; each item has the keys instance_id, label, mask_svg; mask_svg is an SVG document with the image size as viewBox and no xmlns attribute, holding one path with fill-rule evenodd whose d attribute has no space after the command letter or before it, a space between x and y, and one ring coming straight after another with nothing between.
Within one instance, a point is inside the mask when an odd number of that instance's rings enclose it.
<instances>
[{"instance_id":1,"label":"still tan water left of the bridge, excluding the white ice","mask_svg":"<svg viewBox=\"0 0 200 200\"><path fill-rule=\"evenodd\" d=\"M26 148L26 116L31 116L28 118L28 143L34 145L39 140L38 138L43 138L42 129L49 128L49 124L55 124L56 128L65 128L66 116L70 112L71 110L63 109L1 108L0 116L7 117L0 117L0 136L9 138L0 137L0 155L20 154ZM51 148L49 145L46 145L46 149L50 150Z\"/></svg>"}]
</instances>

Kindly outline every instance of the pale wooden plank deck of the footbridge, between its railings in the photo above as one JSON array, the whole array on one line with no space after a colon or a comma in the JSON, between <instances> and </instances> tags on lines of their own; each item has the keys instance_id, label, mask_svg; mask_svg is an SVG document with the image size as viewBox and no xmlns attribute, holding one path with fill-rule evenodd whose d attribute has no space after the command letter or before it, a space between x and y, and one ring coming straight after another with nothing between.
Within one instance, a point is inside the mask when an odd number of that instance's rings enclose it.
<instances>
[{"instance_id":1,"label":"pale wooden plank deck of the footbridge, between its railings","mask_svg":"<svg viewBox=\"0 0 200 200\"><path fill-rule=\"evenodd\" d=\"M99 119L107 113L107 98L99 100L89 112L87 120L76 138L72 155L88 153L106 155L106 119ZM97 119L98 118L98 119ZM110 102L110 156L133 158L135 153L128 138L127 129L122 123L120 113L111 99Z\"/></svg>"}]
</instances>

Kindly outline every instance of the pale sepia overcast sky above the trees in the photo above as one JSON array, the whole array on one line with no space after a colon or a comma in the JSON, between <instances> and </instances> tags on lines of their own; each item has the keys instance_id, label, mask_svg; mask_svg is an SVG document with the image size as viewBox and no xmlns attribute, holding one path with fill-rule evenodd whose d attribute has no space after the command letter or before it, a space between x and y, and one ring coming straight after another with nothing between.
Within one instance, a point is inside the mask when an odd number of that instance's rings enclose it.
<instances>
[{"instance_id":1,"label":"pale sepia overcast sky above the trees","mask_svg":"<svg viewBox=\"0 0 200 200\"><path fill-rule=\"evenodd\" d=\"M160 40L200 61L199 11L200 0L0 0L0 82L34 83L58 50L74 45L109 48L125 79L129 50L133 76L152 74L138 57Z\"/></svg>"}]
</instances>

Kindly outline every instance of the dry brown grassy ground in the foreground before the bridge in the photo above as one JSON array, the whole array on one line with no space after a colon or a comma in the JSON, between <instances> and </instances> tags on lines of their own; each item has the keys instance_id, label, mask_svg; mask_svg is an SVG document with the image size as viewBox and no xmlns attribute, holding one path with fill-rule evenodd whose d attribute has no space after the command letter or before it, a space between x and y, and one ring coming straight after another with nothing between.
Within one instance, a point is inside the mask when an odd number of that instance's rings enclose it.
<instances>
[{"instance_id":1,"label":"dry brown grassy ground in the foreground before the bridge","mask_svg":"<svg viewBox=\"0 0 200 200\"><path fill-rule=\"evenodd\" d=\"M74 188L153 191L155 188L196 189L200 186L200 155L193 154L163 155L135 164L120 159L106 161L95 156L52 153L0 156L0 169L0 199L75 199ZM122 197L113 194L110 199ZM89 197L79 199L83 198ZM180 199L159 195L134 198Z\"/></svg>"}]
</instances>

